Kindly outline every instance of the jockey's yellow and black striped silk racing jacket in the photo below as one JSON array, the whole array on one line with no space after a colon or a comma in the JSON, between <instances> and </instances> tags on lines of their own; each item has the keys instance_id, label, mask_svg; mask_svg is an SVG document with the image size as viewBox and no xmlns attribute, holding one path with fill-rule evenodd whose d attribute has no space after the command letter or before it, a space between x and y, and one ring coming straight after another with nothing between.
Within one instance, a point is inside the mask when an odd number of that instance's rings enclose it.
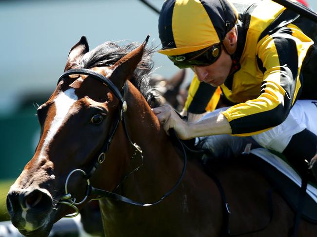
<instances>
[{"instance_id":1,"label":"jockey's yellow and black striped silk racing jacket","mask_svg":"<svg viewBox=\"0 0 317 237\"><path fill-rule=\"evenodd\" d=\"M314 63L310 59L314 49L311 38L316 32L311 34L311 31L316 24L271 0L250 6L240 19L236 55L240 69L220 88L234 104L222 112L232 134L248 136L283 122L298 98L317 99L316 78L303 78L308 75L305 67ZM309 94L305 85L315 85L316 89ZM215 98L214 91L194 78L185 109L204 112L207 104L211 104L210 98Z\"/></svg>"}]
</instances>

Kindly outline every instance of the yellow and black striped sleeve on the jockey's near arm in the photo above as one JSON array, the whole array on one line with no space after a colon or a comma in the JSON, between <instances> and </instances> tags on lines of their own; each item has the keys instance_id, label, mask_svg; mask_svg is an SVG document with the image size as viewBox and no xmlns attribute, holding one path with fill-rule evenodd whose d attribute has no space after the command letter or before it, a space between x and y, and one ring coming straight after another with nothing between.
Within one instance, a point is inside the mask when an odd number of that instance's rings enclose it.
<instances>
[{"instance_id":1,"label":"yellow and black striped sleeve on the jockey's near arm","mask_svg":"<svg viewBox=\"0 0 317 237\"><path fill-rule=\"evenodd\" d=\"M286 119L301 91L301 64L311 43L304 44L287 32L277 32L259 41L257 56L263 72L260 94L222 112L232 134L258 134Z\"/></svg>"}]
</instances>

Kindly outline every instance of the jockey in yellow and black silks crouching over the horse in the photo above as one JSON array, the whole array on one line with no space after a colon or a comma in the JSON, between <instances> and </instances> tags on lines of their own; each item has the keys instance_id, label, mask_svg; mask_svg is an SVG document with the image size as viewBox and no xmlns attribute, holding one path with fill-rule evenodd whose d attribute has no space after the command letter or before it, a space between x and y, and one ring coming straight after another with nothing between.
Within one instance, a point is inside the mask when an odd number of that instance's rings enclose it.
<instances>
[{"instance_id":1,"label":"jockey in yellow and black silks crouching over the horse","mask_svg":"<svg viewBox=\"0 0 317 237\"><path fill-rule=\"evenodd\" d=\"M215 156L238 155L251 142L317 178L316 23L271 0L254 2L164 2L158 52L195 77L182 112L187 122L167 105L153 111L166 132L204 137L201 147L214 155L225 150ZM221 93L230 107L213 111Z\"/></svg>"}]
</instances>

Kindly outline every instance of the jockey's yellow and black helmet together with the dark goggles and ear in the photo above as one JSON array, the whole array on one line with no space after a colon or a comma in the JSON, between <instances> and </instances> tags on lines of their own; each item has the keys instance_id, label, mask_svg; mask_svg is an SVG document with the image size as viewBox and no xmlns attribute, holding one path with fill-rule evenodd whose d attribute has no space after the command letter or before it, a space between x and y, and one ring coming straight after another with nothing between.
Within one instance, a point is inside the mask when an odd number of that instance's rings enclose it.
<instances>
[{"instance_id":1,"label":"jockey's yellow and black helmet together with the dark goggles and ear","mask_svg":"<svg viewBox=\"0 0 317 237\"><path fill-rule=\"evenodd\" d=\"M236 50L227 34L236 34L237 21L238 11L227 0L166 0L158 20L158 52L179 68L211 65L222 49L229 55Z\"/></svg>"}]
</instances>

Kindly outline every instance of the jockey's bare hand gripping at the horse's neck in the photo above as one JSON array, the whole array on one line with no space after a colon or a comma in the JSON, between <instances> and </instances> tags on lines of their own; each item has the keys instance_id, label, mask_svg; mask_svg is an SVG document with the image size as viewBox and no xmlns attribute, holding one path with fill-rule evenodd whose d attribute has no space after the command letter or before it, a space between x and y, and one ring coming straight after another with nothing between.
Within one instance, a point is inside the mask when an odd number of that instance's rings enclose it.
<instances>
[{"instance_id":1,"label":"jockey's bare hand gripping at the horse's neck","mask_svg":"<svg viewBox=\"0 0 317 237\"><path fill-rule=\"evenodd\" d=\"M180 139L186 140L190 138L188 134L188 123L183 121L170 105L163 105L152 109L152 111L158 117L158 121L163 125L163 128L168 135L168 130L174 128Z\"/></svg>"}]
</instances>

